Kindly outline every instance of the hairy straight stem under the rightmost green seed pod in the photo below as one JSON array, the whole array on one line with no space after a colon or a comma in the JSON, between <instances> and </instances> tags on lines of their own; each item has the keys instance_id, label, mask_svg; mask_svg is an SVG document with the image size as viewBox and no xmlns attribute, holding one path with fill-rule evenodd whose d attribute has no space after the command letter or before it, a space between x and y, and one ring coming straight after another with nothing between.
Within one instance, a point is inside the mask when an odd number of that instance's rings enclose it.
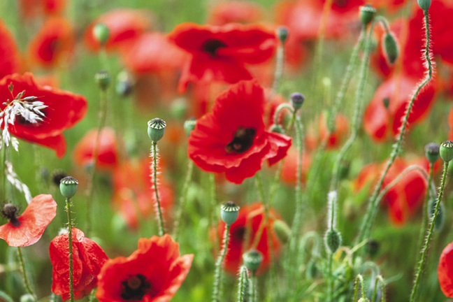
<instances>
[{"instance_id":1,"label":"hairy straight stem under the rightmost green seed pod","mask_svg":"<svg viewBox=\"0 0 453 302\"><path fill-rule=\"evenodd\" d=\"M426 14L427 15L427 14ZM426 235L426 240L424 242L424 246L422 248L422 257L420 258L417 273L415 273L415 280L414 286L412 287L412 292L410 293L410 302L415 301L415 294L417 294L417 289L419 286L420 278L422 277L422 272L424 268L424 264L426 261L426 253L428 252L429 242L431 241L431 236L433 236L434 225L436 224L437 215L439 213L440 201L442 201L442 196L445 188L445 180L447 179L447 170L448 170L449 161L444 162L444 171L442 175L442 180L440 182L440 189L438 199L436 201L436 208L434 210L434 215L431 218L431 222L429 224L428 234Z\"/></svg>"}]
</instances>

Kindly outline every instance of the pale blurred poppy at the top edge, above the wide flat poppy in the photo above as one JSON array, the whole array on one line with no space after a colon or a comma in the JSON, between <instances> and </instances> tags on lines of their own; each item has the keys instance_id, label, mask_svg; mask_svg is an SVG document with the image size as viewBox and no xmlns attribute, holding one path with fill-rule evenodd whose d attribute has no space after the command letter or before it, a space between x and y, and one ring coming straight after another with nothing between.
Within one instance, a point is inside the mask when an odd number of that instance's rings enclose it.
<instances>
[{"instance_id":1,"label":"pale blurred poppy at the top edge, above the wide flat poppy","mask_svg":"<svg viewBox=\"0 0 453 302\"><path fill-rule=\"evenodd\" d=\"M249 1L220 1L213 5L208 16L208 24L253 23L261 19L264 8Z\"/></svg>"}]
</instances>

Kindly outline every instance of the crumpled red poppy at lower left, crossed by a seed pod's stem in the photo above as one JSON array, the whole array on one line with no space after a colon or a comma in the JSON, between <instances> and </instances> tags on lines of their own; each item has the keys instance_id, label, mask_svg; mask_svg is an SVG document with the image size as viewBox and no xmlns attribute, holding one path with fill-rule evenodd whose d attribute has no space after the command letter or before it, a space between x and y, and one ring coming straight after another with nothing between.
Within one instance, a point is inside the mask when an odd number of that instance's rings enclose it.
<instances>
[{"instance_id":1,"label":"crumpled red poppy at lower left, crossed by a seed pod's stem","mask_svg":"<svg viewBox=\"0 0 453 302\"><path fill-rule=\"evenodd\" d=\"M93 240L86 238L80 229L72 228L73 245L73 289L74 299L88 296L97 285L97 275L106 263L106 253ZM59 235L50 241L50 262L52 262L52 292L69 300L69 233Z\"/></svg>"}]
</instances>

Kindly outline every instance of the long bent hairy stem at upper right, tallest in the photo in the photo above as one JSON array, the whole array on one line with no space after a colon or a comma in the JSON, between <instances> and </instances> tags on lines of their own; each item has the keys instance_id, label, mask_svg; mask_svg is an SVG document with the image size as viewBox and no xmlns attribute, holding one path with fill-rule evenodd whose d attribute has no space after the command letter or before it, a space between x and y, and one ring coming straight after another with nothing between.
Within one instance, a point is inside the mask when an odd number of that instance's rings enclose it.
<instances>
[{"instance_id":1,"label":"long bent hairy stem at upper right, tallest in the photo","mask_svg":"<svg viewBox=\"0 0 453 302\"><path fill-rule=\"evenodd\" d=\"M428 71L426 74L426 77L424 78L423 82L417 87L415 90L415 93L412 95L412 99L410 100L405 117L403 120L403 124L401 126L401 131L398 136L398 141L394 143L393 145L393 150L391 150L390 158L389 161L387 161L387 166L384 169L384 173L382 173L382 176L380 180L377 182L377 185L375 186L373 195L371 196L371 199L368 202L368 209L366 210L366 215L364 218L364 221L361 224L360 231L359 231L359 236L357 242L361 242L365 239L368 238L370 235L371 231L371 225L373 224L373 212L379 206L379 203L377 203L377 194L379 194L380 189L382 188L382 185L384 184L384 178L389 172L389 169L391 165L394 163L396 157L398 156L398 153L401 151L401 145L403 143L403 138L405 134L405 129L408 126L408 120L409 120L409 115L410 112L412 111L412 106L414 105L415 99L417 98L419 92L422 90L422 88L428 84L428 82L433 78L433 64L431 64L431 54L429 50L429 43L430 43L430 37L429 37L429 15L428 15L428 10L424 10L424 21L425 21L425 35L426 35L426 42L425 42L425 59L426 59L426 64L428 66Z\"/></svg>"}]
</instances>

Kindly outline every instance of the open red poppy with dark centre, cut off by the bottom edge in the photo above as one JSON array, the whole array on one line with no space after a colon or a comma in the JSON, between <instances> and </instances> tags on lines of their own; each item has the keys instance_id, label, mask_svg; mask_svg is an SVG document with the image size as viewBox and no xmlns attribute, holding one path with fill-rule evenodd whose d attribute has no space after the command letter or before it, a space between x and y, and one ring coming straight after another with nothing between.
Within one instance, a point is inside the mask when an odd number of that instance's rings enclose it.
<instances>
[{"instance_id":1,"label":"open red poppy with dark centre, cut off by the bottom edge","mask_svg":"<svg viewBox=\"0 0 453 302\"><path fill-rule=\"evenodd\" d=\"M100 302L167 302L184 282L193 254L180 257L179 244L170 235L138 240L129 257L110 259L98 275Z\"/></svg>"}]
</instances>

